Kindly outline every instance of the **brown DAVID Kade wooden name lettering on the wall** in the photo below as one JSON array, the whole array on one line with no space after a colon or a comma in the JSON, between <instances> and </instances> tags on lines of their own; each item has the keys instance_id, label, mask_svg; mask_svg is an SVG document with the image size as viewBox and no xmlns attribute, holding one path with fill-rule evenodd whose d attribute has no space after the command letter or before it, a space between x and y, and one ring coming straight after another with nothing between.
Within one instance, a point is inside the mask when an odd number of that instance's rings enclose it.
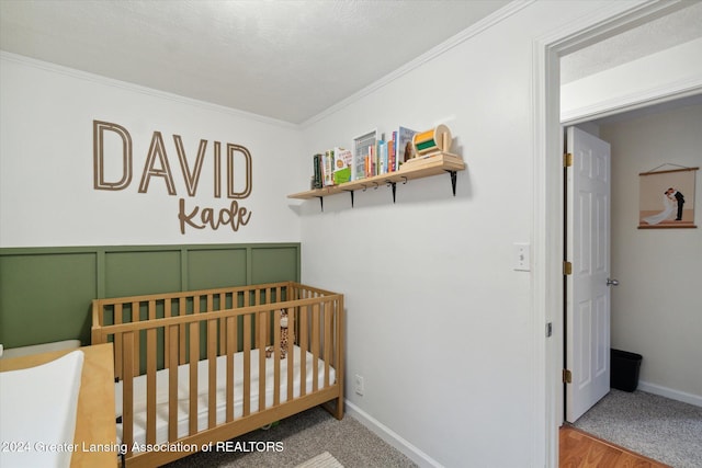
<instances>
[{"instance_id":1,"label":"brown DAVID Kade wooden name lettering on the wall","mask_svg":"<svg viewBox=\"0 0 702 468\"><path fill-rule=\"evenodd\" d=\"M132 183L134 174L132 136L129 132L122 125L93 121L92 135L93 187L106 191L125 190ZM109 151L105 150L106 135L113 135L110 139L111 142L114 142L114 135L116 135L116 140L121 141L118 145L121 146L121 152L118 150L115 151L116 147L114 145L110 145ZM180 165L180 171L174 174L166 152L163 136L160 132L154 132L149 150L146 155L146 163L141 171L138 192L148 193L149 186L155 180L166 186L169 195L178 196L173 176L182 175L188 196L195 196L203 162L207 153L207 140L201 139L197 156L193 158L191 155L189 159L183 148L182 138L180 135L173 135L173 145L176 146ZM211 150L214 161L213 195L215 198L222 198L224 194L231 202L228 207L216 210L211 207L188 207L185 198L179 198L178 220L182 235L185 233L186 228L205 229L208 227L216 230L222 226L229 226L233 231L237 231L239 227L246 226L251 219L251 212L239 205L240 199L251 194L251 153L241 145L228 142L225 148L226 165L223 168L222 142L213 141ZM223 169L225 171L224 174ZM242 171L244 176L235 179L235 173L238 174L239 171ZM223 187L223 180L226 180L226 187ZM242 181L244 183L241 183Z\"/></svg>"}]
</instances>

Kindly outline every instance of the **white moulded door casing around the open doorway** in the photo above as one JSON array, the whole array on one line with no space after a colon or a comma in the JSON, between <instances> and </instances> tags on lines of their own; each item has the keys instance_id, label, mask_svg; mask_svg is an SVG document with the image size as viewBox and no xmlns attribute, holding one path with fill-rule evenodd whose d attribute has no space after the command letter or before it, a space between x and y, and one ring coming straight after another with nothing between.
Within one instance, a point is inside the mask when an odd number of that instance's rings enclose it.
<instances>
[{"instance_id":1,"label":"white moulded door casing around the open doorway","mask_svg":"<svg viewBox=\"0 0 702 468\"><path fill-rule=\"evenodd\" d=\"M562 122L559 106L559 57L607 37L625 32L636 25L656 18L665 16L684 5L669 2L646 2L624 5L612 3L591 24L571 25L554 35L535 41L534 44L534 83L535 83L535 139L536 170L534 171L535 194L534 213L534 310L539 315L534 321L534 335L543 333L543 323L553 334L543 344L545 385L545 459L547 466L558 465L558 426L563 423L563 368L564 368L564 323L563 305L563 217L550 214L563 213L563 144L562 124L588 122L596 116L607 116L683 95L699 94L702 83L692 87L668 85L656 89L655 93L632 93L626 100L610 102L595 113L571 117ZM541 322L540 320L543 320Z\"/></svg>"}]
</instances>

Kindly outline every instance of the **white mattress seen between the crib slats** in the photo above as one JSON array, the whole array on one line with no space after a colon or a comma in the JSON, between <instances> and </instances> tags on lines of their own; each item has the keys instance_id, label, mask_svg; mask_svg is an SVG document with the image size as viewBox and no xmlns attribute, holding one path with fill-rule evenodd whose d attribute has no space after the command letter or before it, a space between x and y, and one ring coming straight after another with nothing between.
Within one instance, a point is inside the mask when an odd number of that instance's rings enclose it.
<instances>
[{"instance_id":1,"label":"white mattress seen between the crib slats","mask_svg":"<svg viewBox=\"0 0 702 468\"><path fill-rule=\"evenodd\" d=\"M301 396L301 353L298 346L293 347L294 374L293 374L293 398ZM259 350L251 350L251 386L250 386L250 411L259 411ZM273 406L274 395L274 359L265 358L265 408ZM280 361L280 401L287 401L287 359ZM226 420L226 356L217 357L217 391L216 391L216 423L222 424ZM325 362L319 358L315 369L312 353L306 352L306 383L305 391L313 391L313 379L315 370L317 374L317 388L321 388L325 383ZM197 431L207 429L210 395L208 385L208 361L201 361L197 365ZM156 444L168 442L168 369L156 373ZM240 418L244 414L244 353L234 355L234 416ZM329 384L336 380L336 372L329 366ZM115 413L122 415L122 381L115 384ZM178 368L178 437L189 435L189 413L190 413L190 365L184 364ZM117 438L122 442L123 424L117 423ZM141 445L146 443L146 376L134 378L134 443Z\"/></svg>"}]
</instances>

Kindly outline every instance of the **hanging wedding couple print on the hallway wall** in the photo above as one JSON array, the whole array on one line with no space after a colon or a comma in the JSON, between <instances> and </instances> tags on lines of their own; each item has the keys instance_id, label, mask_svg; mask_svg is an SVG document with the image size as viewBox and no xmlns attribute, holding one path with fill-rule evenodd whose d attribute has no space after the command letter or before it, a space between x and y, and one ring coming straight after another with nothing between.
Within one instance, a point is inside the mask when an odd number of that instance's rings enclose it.
<instances>
[{"instance_id":1,"label":"hanging wedding couple print on the hallway wall","mask_svg":"<svg viewBox=\"0 0 702 468\"><path fill-rule=\"evenodd\" d=\"M694 179L699 169L638 174L638 229L697 228Z\"/></svg>"}]
</instances>

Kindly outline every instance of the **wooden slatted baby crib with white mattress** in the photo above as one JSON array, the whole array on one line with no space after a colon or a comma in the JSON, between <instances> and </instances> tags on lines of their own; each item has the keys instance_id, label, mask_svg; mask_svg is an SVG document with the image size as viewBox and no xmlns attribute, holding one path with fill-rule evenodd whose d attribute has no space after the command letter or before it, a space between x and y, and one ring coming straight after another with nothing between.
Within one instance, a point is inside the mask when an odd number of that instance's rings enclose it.
<instances>
[{"instance_id":1,"label":"wooden slatted baby crib with white mattress","mask_svg":"<svg viewBox=\"0 0 702 468\"><path fill-rule=\"evenodd\" d=\"M95 299L92 313L92 344L114 343L128 467L215 450L319 404L343 418L340 294L285 282Z\"/></svg>"}]
</instances>

